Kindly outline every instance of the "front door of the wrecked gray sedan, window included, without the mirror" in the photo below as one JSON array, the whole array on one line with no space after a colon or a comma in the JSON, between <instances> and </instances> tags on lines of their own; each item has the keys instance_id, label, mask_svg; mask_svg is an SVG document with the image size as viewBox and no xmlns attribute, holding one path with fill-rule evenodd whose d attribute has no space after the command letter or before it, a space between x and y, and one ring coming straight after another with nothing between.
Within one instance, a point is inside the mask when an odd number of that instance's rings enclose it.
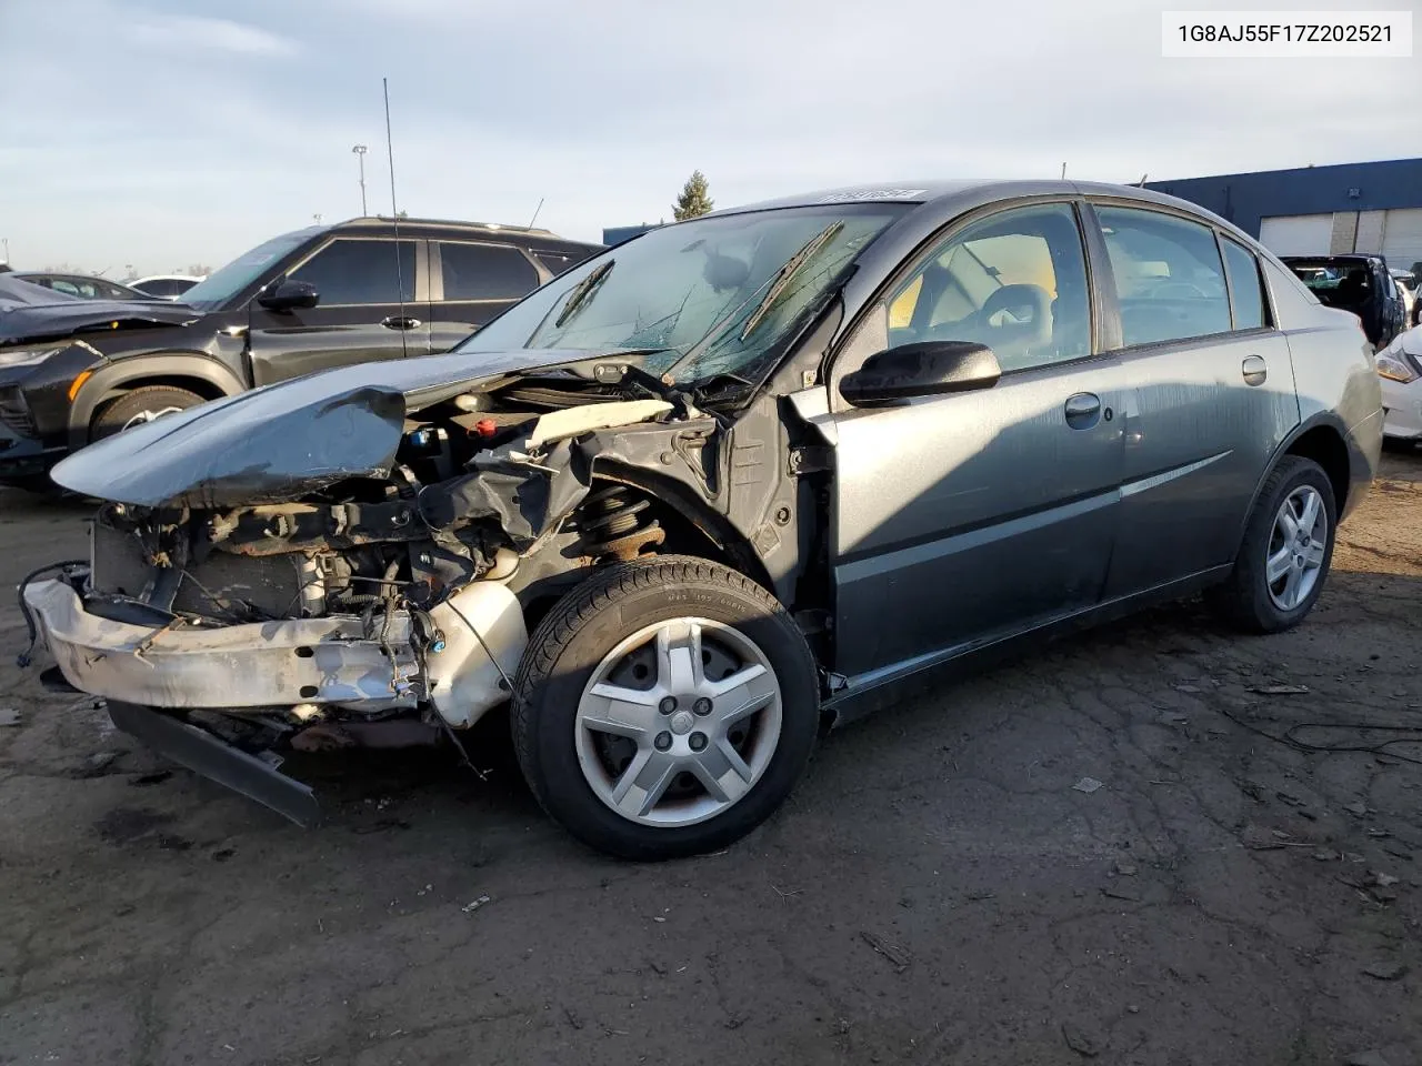
<instances>
[{"instance_id":1,"label":"front door of the wrecked gray sedan, window included, without the mirror","mask_svg":"<svg viewBox=\"0 0 1422 1066\"><path fill-rule=\"evenodd\" d=\"M1037 203L951 232L870 313L887 344L964 340L991 388L835 414L836 668L850 677L1030 628L1101 598L1125 387L1094 354L1076 210ZM882 343L850 340L832 387Z\"/></svg>"}]
</instances>

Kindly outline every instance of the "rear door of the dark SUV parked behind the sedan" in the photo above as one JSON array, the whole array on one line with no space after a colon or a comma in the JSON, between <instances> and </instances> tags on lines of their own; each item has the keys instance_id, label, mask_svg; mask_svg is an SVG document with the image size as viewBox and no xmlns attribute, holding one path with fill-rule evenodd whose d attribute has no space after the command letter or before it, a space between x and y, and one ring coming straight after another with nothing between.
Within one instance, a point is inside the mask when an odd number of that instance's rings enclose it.
<instances>
[{"instance_id":1,"label":"rear door of the dark SUV parked behind the sedan","mask_svg":"<svg viewBox=\"0 0 1422 1066\"><path fill-rule=\"evenodd\" d=\"M448 351L552 277L523 249L483 240L429 242L429 273L434 351Z\"/></svg>"}]
</instances>

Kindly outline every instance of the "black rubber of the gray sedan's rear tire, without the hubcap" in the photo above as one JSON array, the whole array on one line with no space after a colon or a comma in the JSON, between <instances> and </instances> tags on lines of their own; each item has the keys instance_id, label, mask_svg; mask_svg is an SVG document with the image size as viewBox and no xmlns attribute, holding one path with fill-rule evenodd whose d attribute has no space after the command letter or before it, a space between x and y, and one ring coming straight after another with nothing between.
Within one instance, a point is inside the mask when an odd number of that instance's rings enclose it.
<instances>
[{"instance_id":1,"label":"black rubber of the gray sedan's rear tire, without the hubcap","mask_svg":"<svg viewBox=\"0 0 1422 1066\"><path fill-rule=\"evenodd\" d=\"M1278 509L1291 492L1304 485L1315 489L1322 497L1324 513L1328 516L1328 540L1324 544L1322 567L1313 590L1297 607L1285 611L1270 596L1266 564ZM1324 590L1337 534L1338 507L1328 475L1313 459L1285 455L1264 479L1244 527L1244 540L1234 560L1234 570L1224 584L1210 590L1206 601L1220 618L1246 632L1283 632L1293 628L1313 610Z\"/></svg>"}]
</instances>

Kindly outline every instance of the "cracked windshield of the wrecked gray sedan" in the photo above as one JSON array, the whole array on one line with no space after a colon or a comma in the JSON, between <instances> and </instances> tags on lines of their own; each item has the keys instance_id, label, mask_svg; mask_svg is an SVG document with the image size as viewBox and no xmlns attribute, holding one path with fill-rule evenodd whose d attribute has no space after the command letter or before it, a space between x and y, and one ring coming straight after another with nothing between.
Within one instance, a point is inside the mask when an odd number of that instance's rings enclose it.
<instances>
[{"instance_id":1,"label":"cracked windshield of the wrecked gray sedan","mask_svg":"<svg viewBox=\"0 0 1422 1066\"><path fill-rule=\"evenodd\" d=\"M650 368L678 382L754 378L900 213L786 209L653 230L557 279L461 351L656 350Z\"/></svg>"}]
</instances>

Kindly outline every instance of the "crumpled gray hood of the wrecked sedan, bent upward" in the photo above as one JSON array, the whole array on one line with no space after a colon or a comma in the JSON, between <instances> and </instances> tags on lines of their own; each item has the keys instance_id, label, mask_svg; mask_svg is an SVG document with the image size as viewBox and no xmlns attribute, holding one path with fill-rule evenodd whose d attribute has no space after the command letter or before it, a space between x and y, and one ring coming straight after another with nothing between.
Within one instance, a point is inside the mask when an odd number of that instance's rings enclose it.
<instances>
[{"instance_id":1,"label":"crumpled gray hood of the wrecked sedan, bent upward","mask_svg":"<svg viewBox=\"0 0 1422 1066\"><path fill-rule=\"evenodd\" d=\"M58 463L55 483L144 507L296 500L346 478L384 478L405 415L505 374L589 352L451 352L313 374L218 399L98 441Z\"/></svg>"}]
</instances>

